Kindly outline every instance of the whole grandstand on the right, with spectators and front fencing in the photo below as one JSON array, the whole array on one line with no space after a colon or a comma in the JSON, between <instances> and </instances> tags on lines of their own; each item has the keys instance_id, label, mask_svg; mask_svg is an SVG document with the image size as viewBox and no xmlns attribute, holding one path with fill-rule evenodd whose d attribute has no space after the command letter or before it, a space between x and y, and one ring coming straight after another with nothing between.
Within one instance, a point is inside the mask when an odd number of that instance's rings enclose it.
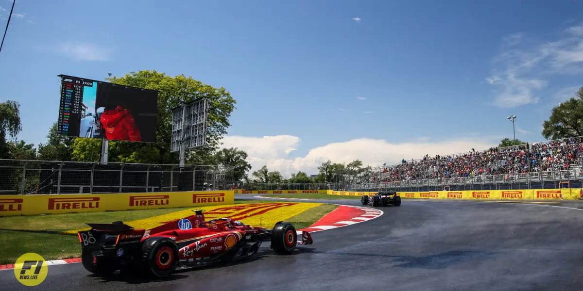
<instances>
[{"instance_id":1,"label":"whole grandstand on the right, with spectators and front fencing","mask_svg":"<svg viewBox=\"0 0 583 291\"><path fill-rule=\"evenodd\" d=\"M506 190L580 188L583 138L437 155L373 169L347 190Z\"/></svg>"}]
</instances>

